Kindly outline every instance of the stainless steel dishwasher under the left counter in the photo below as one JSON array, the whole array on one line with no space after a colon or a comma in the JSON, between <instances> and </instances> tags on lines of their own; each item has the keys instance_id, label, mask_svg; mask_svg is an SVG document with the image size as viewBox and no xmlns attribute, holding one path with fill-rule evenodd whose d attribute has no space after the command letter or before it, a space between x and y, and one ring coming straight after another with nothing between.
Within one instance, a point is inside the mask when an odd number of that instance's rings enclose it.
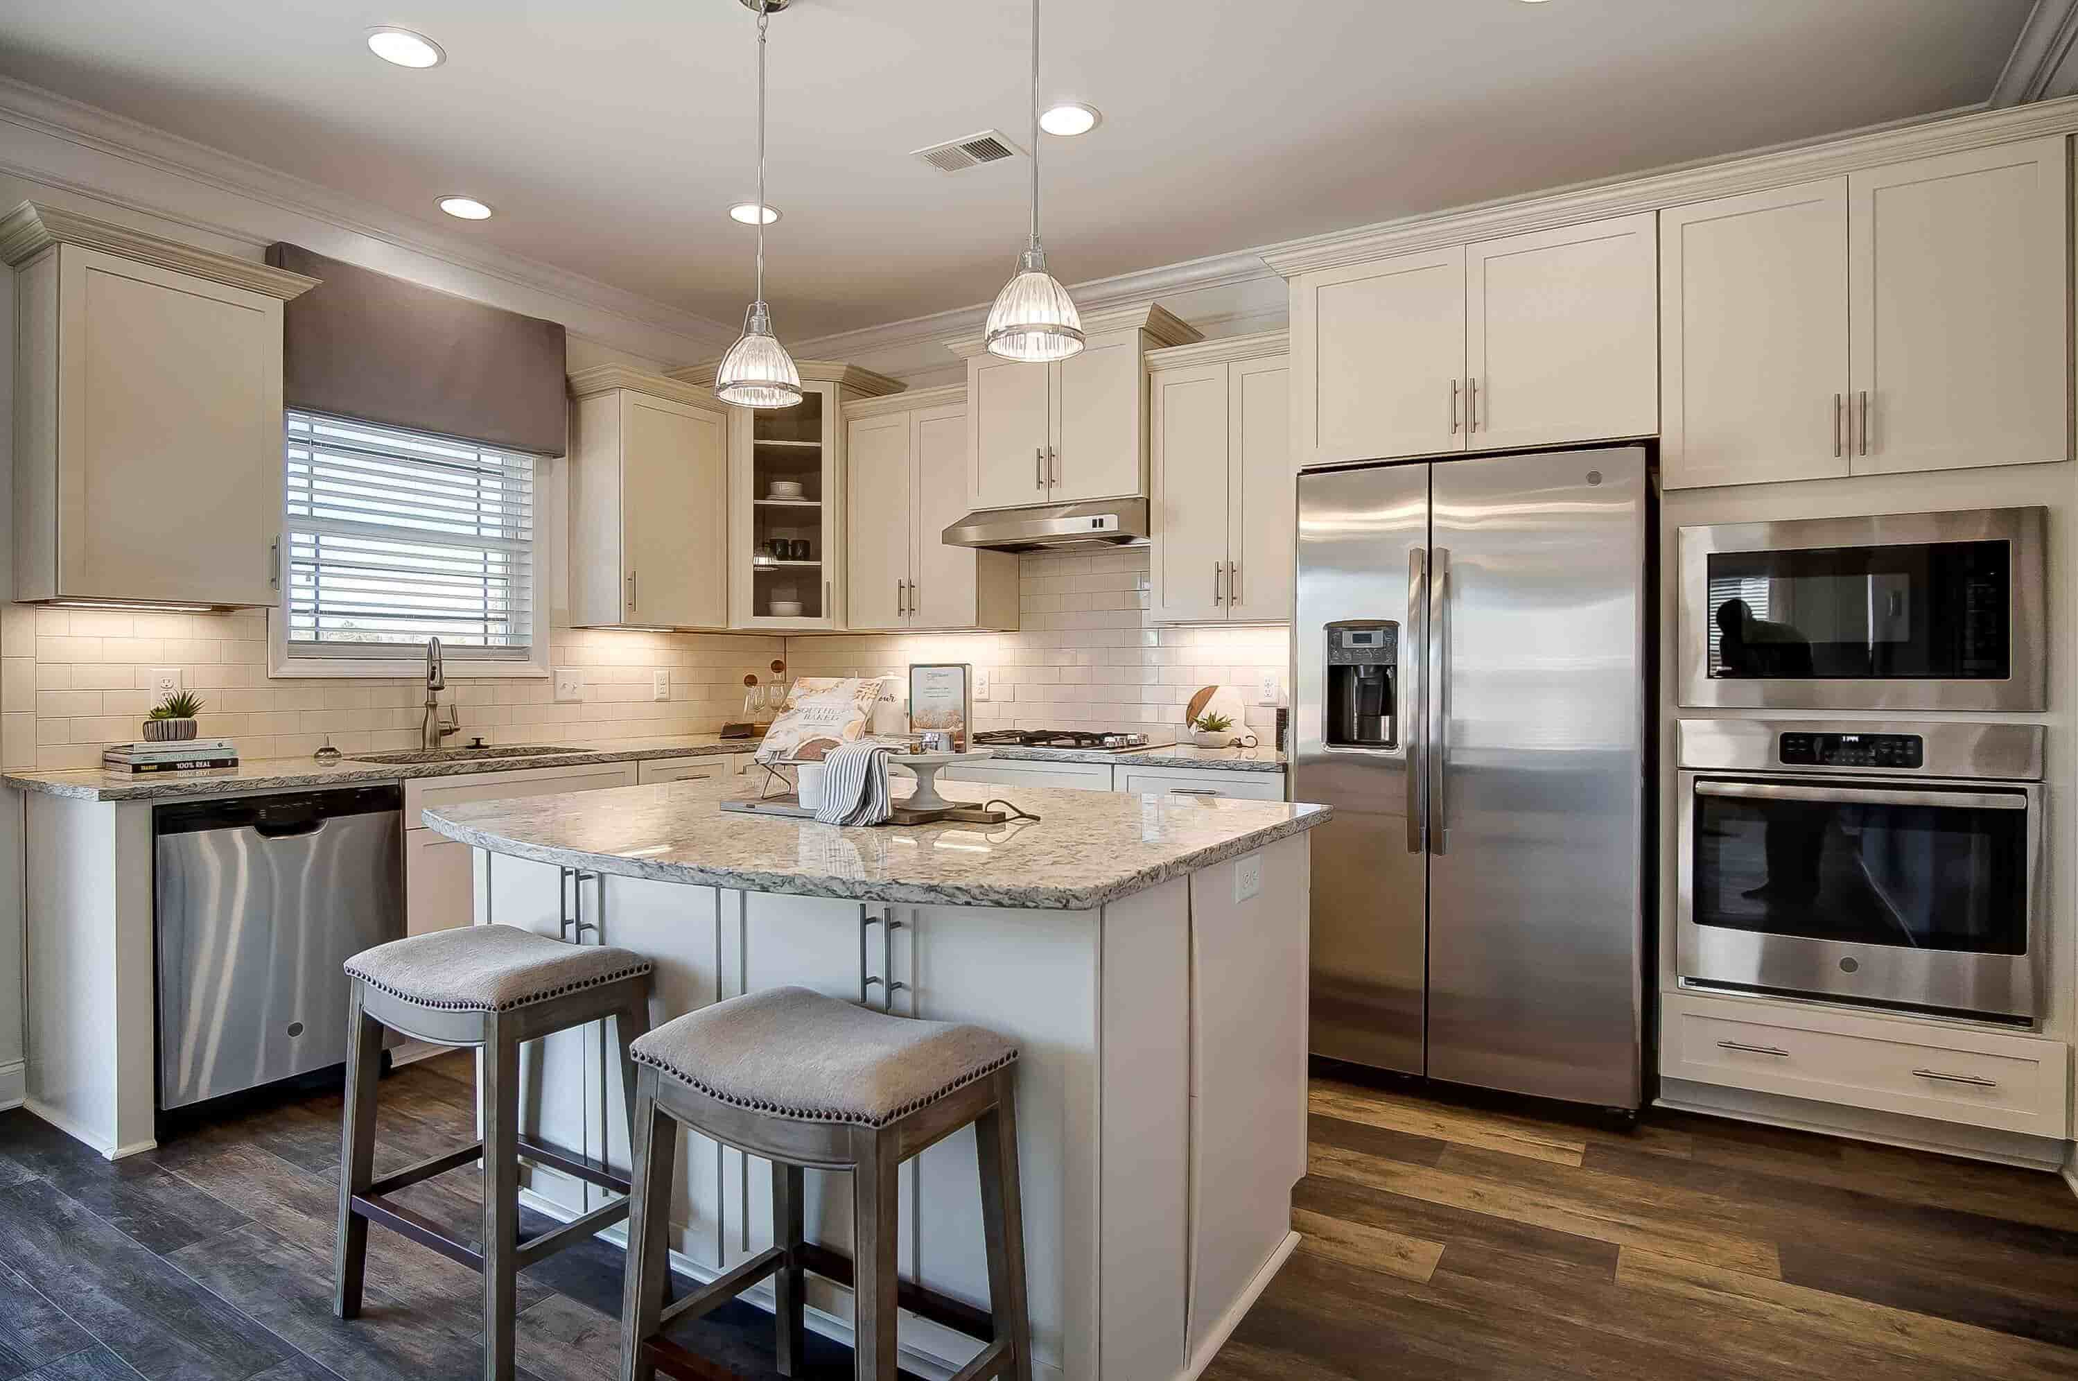
<instances>
[{"instance_id":1,"label":"stainless steel dishwasher under the left counter","mask_svg":"<svg viewBox=\"0 0 2078 1381\"><path fill-rule=\"evenodd\" d=\"M347 957L403 934L403 803L355 786L160 805L158 1106L347 1059Z\"/></svg>"}]
</instances>

